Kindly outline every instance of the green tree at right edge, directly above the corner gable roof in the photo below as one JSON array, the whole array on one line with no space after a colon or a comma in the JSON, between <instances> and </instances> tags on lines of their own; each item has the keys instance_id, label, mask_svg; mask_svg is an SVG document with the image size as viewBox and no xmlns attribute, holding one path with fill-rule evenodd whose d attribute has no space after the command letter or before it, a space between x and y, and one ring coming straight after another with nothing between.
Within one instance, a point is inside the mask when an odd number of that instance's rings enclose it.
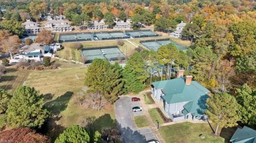
<instances>
[{"instance_id":1,"label":"green tree at right edge, directly above the corner gable roof","mask_svg":"<svg viewBox=\"0 0 256 143\"><path fill-rule=\"evenodd\" d=\"M251 127L256 126L256 90L252 90L247 84L236 89L236 99L242 105L242 123Z\"/></svg>"}]
</instances>

